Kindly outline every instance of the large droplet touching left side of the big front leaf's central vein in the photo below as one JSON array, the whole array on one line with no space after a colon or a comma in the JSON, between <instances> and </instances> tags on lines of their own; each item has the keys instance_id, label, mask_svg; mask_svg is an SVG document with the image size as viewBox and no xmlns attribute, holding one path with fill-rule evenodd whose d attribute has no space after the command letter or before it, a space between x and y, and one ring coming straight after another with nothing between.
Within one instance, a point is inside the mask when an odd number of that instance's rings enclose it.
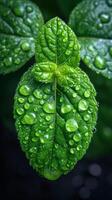
<instances>
[{"instance_id":1,"label":"large droplet touching left side of the big front leaf's central vein","mask_svg":"<svg viewBox=\"0 0 112 200\"><path fill-rule=\"evenodd\" d=\"M54 102L47 102L43 106L43 110L46 113L55 113L55 104Z\"/></svg>"}]
</instances>

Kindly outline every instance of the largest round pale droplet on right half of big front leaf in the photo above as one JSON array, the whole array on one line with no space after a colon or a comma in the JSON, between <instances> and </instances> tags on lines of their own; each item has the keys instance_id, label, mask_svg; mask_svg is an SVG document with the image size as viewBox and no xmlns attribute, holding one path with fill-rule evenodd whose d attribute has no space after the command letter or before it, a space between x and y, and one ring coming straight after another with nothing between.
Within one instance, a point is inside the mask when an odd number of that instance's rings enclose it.
<instances>
[{"instance_id":1,"label":"largest round pale droplet on right half of big front leaf","mask_svg":"<svg viewBox=\"0 0 112 200\"><path fill-rule=\"evenodd\" d=\"M74 132L78 129L78 124L75 119L68 119L66 121L66 130L68 132Z\"/></svg>"}]
</instances>

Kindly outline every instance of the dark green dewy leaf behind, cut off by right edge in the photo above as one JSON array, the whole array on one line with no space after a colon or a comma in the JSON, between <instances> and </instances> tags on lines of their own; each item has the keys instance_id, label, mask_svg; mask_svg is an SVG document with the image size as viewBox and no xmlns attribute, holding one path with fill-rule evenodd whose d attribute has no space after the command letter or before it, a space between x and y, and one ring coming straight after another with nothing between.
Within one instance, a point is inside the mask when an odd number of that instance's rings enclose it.
<instances>
[{"instance_id":1,"label":"dark green dewy leaf behind, cut off by right edge","mask_svg":"<svg viewBox=\"0 0 112 200\"><path fill-rule=\"evenodd\" d=\"M83 62L112 78L112 1L84 0L72 11L69 25L79 38Z\"/></svg>"}]
</instances>

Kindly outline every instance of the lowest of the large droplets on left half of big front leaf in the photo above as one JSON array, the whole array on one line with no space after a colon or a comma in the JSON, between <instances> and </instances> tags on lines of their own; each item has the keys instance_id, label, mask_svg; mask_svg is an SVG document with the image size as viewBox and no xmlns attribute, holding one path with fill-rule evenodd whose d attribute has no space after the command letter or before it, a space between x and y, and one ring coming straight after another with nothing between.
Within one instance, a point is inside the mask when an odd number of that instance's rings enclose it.
<instances>
[{"instance_id":1,"label":"lowest of the large droplets on left half of big front leaf","mask_svg":"<svg viewBox=\"0 0 112 200\"><path fill-rule=\"evenodd\" d=\"M28 114L24 115L24 117L22 119L22 123L32 125L35 123L35 119L36 119L36 115L34 113L28 113Z\"/></svg>"}]
</instances>

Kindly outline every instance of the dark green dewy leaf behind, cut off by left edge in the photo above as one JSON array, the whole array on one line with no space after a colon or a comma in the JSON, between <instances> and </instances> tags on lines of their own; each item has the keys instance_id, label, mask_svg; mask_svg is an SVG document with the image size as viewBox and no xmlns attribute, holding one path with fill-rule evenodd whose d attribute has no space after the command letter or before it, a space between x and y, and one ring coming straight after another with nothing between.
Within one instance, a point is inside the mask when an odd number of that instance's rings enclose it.
<instances>
[{"instance_id":1,"label":"dark green dewy leaf behind, cut off by left edge","mask_svg":"<svg viewBox=\"0 0 112 200\"><path fill-rule=\"evenodd\" d=\"M0 73L22 67L35 53L43 24L39 8L27 0L0 0Z\"/></svg>"}]
</instances>

